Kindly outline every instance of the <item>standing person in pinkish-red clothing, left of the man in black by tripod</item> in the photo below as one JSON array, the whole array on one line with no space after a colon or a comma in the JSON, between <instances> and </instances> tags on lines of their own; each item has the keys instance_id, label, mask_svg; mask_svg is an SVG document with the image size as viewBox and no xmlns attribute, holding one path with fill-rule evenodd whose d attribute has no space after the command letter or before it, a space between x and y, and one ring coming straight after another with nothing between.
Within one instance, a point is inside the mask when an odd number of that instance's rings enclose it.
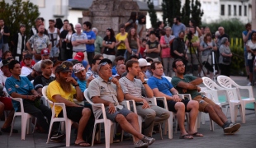
<instances>
[{"instance_id":1,"label":"standing person in pinkish-red clothing, left of the man in black by tripod","mask_svg":"<svg viewBox=\"0 0 256 148\"><path fill-rule=\"evenodd\" d=\"M173 70L172 70L172 64L173 64L173 57L171 57L171 44L173 43L173 39L175 38L174 35L172 35L172 28L169 26L164 27L165 35L163 35L160 39L160 44L162 47L161 52L161 58L163 60L164 65L164 73L166 76L172 77Z\"/></svg>"}]
</instances>

